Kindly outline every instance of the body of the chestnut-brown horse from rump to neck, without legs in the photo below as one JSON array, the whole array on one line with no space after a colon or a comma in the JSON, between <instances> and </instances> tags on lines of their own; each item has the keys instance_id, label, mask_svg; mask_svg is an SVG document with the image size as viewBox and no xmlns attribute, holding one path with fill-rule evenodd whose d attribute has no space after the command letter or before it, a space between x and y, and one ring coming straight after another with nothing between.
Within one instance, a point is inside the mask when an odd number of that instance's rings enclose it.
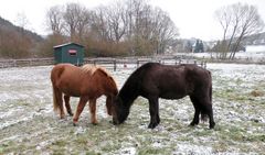
<instances>
[{"instance_id":1,"label":"body of the chestnut-brown horse from rump to neck, without legs","mask_svg":"<svg viewBox=\"0 0 265 155\"><path fill-rule=\"evenodd\" d=\"M52 69L51 79L53 86L74 97L116 95L118 91L113 77L99 67L89 73L71 64L60 64Z\"/></svg>"}]
</instances>

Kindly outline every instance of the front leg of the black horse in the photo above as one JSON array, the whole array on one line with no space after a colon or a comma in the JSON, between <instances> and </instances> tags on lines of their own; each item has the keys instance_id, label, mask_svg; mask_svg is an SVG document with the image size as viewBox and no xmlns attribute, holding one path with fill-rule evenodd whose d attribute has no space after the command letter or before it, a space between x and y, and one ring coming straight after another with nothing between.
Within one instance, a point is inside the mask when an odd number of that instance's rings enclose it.
<instances>
[{"instance_id":1,"label":"front leg of the black horse","mask_svg":"<svg viewBox=\"0 0 265 155\"><path fill-rule=\"evenodd\" d=\"M148 125L148 128L155 129L160 123L158 98L150 98L148 99L148 101L150 112L150 124Z\"/></svg>"}]
</instances>

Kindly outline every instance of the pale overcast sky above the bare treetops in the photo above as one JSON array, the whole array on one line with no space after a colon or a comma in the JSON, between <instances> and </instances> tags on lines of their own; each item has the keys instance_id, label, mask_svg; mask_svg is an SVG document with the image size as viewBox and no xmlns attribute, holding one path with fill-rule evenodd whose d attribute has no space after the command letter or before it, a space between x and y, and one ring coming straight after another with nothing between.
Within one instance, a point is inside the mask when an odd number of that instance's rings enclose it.
<instances>
[{"instance_id":1,"label":"pale overcast sky above the bare treetops","mask_svg":"<svg viewBox=\"0 0 265 155\"><path fill-rule=\"evenodd\" d=\"M93 9L108 4L114 0L3 0L0 4L0 16L18 23L18 14L24 14L29 21L28 29L45 35L46 10L56 4L78 2ZM179 29L180 37L197 37L204 41L221 38L222 29L214 19L219 8L236 2L256 5L265 21L265 0L149 0L150 4L167 11Z\"/></svg>"}]
</instances>

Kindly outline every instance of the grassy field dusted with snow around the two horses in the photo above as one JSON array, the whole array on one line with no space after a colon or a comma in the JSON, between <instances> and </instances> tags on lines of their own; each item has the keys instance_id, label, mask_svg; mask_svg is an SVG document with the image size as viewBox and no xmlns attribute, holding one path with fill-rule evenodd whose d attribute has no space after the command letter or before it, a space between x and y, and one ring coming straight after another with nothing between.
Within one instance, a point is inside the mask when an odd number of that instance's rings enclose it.
<instances>
[{"instance_id":1,"label":"grassy field dusted with snow around the two horses","mask_svg":"<svg viewBox=\"0 0 265 155\"><path fill-rule=\"evenodd\" d=\"M114 126L105 97L97 101L98 125L88 108L78 126L53 112L52 66L0 69L0 154L264 154L265 66L208 64L213 76L216 126L188 124L189 98L160 99L161 123L149 130L148 102L138 98L125 124ZM120 88L134 66L109 70ZM72 99L73 109L78 100Z\"/></svg>"}]
</instances>

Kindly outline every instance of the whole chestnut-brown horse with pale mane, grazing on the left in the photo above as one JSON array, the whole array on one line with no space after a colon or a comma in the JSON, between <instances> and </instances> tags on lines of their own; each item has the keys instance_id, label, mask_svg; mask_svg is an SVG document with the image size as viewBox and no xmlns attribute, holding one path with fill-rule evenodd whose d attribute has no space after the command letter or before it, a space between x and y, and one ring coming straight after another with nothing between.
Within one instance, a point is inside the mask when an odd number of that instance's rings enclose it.
<instances>
[{"instance_id":1,"label":"whole chestnut-brown horse with pale mane, grazing on the left","mask_svg":"<svg viewBox=\"0 0 265 155\"><path fill-rule=\"evenodd\" d=\"M63 95L70 115L73 115L70 97L80 97L73 118L74 125L76 125L87 101L89 101L91 122L93 124L97 123L95 114L96 100L103 95L107 97L107 113L112 115L113 99L118 93L118 89L114 78L104 68L94 65L76 67L71 64L59 64L51 71L51 81L53 86L53 108L54 111L60 111L61 119L65 117Z\"/></svg>"}]
</instances>

